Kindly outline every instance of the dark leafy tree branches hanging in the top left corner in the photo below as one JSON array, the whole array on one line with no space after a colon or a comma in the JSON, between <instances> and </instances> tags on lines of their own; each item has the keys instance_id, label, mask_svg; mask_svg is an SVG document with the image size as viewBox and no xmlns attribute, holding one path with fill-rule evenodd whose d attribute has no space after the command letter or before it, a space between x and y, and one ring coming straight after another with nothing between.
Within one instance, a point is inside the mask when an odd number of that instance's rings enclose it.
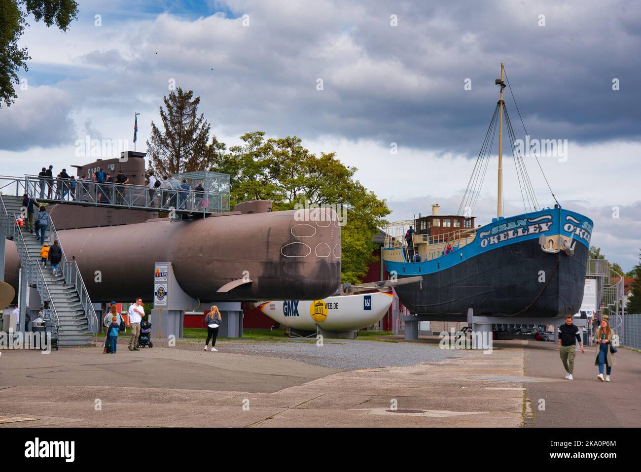
<instances>
[{"instance_id":1,"label":"dark leafy tree branches hanging in the top left corner","mask_svg":"<svg viewBox=\"0 0 641 472\"><path fill-rule=\"evenodd\" d=\"M74 0L0 0L0 108L17 98L13 85L19 83L18 71L28 70L31 57L26 47L18 47L18 40L28 26L27 15L36 21L56 24L62 31L76 19L78 4Z\"/></svg>"}]
</instances>

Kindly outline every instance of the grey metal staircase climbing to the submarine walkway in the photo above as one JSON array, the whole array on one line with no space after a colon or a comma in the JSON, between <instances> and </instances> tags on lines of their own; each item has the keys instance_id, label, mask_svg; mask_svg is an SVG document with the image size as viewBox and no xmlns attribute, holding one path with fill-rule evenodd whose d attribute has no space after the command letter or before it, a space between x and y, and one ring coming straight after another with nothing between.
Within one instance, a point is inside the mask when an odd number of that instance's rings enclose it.
<instances>
[{"instance_id":1,"label":"grey metal staircase climbing to the submarine walkway","mask_svg":"<svg viewBox=\"0 0 641 472\"><path fill-rule=\"evenodd\" d=\"M49 264L40 263L40 238L29 234L26 222L23 227L16 224L21 215L22 199L0 195L0 224L6 238L13 240L17 247L27 283L35 287L42 302L48 302L51 321L58 325L60 346L96 345L99 322L80 275L76 261L67 261L64 250L60 261L62 275L53 275ZM47 243L58 240L53 221L47 230ZM61 246L62 248L62 246Z\"/></svg>"}]
</instances>

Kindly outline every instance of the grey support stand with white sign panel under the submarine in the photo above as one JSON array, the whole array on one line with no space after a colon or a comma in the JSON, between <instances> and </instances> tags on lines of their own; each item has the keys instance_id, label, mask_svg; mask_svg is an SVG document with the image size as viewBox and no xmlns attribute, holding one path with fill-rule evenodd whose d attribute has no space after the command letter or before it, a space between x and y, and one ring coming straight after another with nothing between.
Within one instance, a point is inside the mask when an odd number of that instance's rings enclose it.
<instances>
[{"instance_id":1,"label":"grey support stand with white sign panel under the submarine","mask_svg":"<svg viewBox=\"0 0 641 472\"><path fill-rule=\"evenodd\" d=\"M198 307L198 300L180 288L171 262L154 266L154 307L151 310L151 337L183 337L185 311Z\"/></svg>"}]
</instances>

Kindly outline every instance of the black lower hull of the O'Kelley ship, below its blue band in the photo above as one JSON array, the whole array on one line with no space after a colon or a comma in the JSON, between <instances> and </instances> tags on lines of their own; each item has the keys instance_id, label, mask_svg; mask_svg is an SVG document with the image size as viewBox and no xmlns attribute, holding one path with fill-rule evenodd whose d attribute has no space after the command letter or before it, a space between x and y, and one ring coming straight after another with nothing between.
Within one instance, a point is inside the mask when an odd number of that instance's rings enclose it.
<instances>
[{"instance_id":1,"label":"black lower hull of the O'Kelley ship, below its blue band","mask_svg":"<svg viewBox=\"0 0 641 472\"><path fill-rule=\"evenodd\" d=\"M583 245L574 256L547 254L536 240L524 241L423 275L422 289L409 284L395 290L415 314L465 320L472 308L475 316L557 318L581 307L587 254Z\"/></svg>"}]
</instances>

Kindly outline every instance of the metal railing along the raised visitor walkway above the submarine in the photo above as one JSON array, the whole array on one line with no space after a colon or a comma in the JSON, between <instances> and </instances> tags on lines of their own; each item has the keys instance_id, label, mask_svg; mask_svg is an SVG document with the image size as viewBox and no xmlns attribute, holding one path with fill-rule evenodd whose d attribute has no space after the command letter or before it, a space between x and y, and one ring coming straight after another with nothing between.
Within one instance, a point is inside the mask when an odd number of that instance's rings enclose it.
<instances>
[{"instance_id":1,"label":"metal railing along the raised visitor walkway above the submarine","mask_svg":"<svg viewBox=\"0 0 641 472\"><path fill-rule=\"evenodd\" d=\"M37 175L0 175L0 191L16 197L27 193L38 201L82 206L173 211L177 214L202 213L203 216L229 211L229 193L212 190L149 188L81 179L44 179Z\"/></svg>"}]
</instances>

